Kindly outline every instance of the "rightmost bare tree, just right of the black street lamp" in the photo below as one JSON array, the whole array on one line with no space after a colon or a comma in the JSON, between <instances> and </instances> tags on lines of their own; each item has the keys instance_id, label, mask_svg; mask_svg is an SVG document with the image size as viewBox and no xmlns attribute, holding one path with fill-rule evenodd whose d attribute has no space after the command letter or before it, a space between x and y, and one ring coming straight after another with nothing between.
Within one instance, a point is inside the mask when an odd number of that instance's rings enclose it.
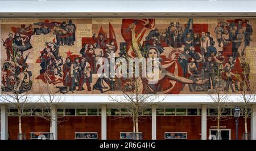
<instances>
[{"instance_id":1,"label":"rightmost bare tree, just right of the black street lamp","mask_svg":"<svg viewBox=\"0 0 256 151\"><path fill-rule=\"evenodd\" d=\"M238 102L242 102L242 113L244 124L245 124L245 140L248 139L248 130L247 130L247 119L250 118L251 115L251 105L255 103L255 85L256 80L255 75L250 75L250 65L245 61L245 58L241 58L241 69L242 72L240 73L240 93L241 96L238 98Z\"/></svg>"}]
</instances>

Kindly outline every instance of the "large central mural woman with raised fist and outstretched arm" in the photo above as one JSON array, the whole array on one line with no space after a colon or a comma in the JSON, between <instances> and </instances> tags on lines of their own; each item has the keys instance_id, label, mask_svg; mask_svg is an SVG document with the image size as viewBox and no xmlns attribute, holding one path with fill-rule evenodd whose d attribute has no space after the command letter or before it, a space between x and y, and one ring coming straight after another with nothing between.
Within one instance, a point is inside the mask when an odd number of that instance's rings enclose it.
<instances>
[{"instance_id":1,"label":"large central mural woman with raised fist and outstretched arm","mask_svg":"<svg viewBox=\"0 0 256 151\"><path fill-rule=\"evenodd\" d=\"M140 59L141 57L143 57L143 55L139 50L139 40L137 39L138 37L136 38L135 36L135 26L136 25L132 23L129 25L128 28L131 31L132 48L137 54L137 57ZM178 94L180 90L183 89L182 83L204 84L207 81L203 80L203 78L191 80L182 77L182 71L179 70L180 66L176 62L176 60L170 60L166 58L165 55L160 55L159 49L154 46L147 49L146 58L159 58L159 75L157 80L155 78L150 77L150 75L148 75L149 77L147 77L146 79L142 79L144 93ZM152 63L152 66L154 66L154 64L156 63Z\"/></svg>"}]
</instances>

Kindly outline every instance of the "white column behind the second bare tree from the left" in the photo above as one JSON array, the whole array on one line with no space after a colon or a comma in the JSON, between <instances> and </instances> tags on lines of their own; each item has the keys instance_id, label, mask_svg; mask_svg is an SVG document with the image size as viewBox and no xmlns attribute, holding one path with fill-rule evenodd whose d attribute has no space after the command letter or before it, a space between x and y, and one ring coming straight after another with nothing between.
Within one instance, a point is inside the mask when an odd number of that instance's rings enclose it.
<instances>
[{"instance_id":1,"label":"white column behind the second bare tree from the left","mask_svg":"<svg viewBox=\"0 0 256 151\"><path fill-rule=\"evenodd\" d=\"M58 136L58 122L57 122L57 108L53 106L51 109L51 133L53 133L53 139L57 140Z\"/></svg>"}]
</instances>

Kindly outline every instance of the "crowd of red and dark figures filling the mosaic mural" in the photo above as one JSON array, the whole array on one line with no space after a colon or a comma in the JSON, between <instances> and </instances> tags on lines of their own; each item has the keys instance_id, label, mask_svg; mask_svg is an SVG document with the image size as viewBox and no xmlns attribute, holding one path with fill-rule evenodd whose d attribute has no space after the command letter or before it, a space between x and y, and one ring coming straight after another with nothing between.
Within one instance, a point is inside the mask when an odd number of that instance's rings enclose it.
<instances>
[{"instance_id":1,"label":"crowd of red and dark figures filling the mosaic mural","mask_svg":"<svg viewBox=\"0 0 256 151\"><path fill-rule=\"evenodd\" d=\"M76 45L77 29L72 20L68 23L46 20L10 27L13 32L9 37L2 37L1 43L6 49L6 58L2 58L5 62L1 63L1 89L18 93L32 89L32 72L26 63L30 53L26 56L23 53L33 48L30 41L34 35L53 34L55 38L45 41L43 50L34 50L38 51L34 66L40 71L33 75L35 80L52 84L56 92L84 91L81 93L86 94L132 88L130 77L122 77L122 73L115 77L93 76L104 64L98 62L100 58L110 61L111 54L115 54L115 60L160 58L158 80L141 78L143 93L179 94L185 84L190 92L217 88L226 92L241 91L243 85L250 85L250 66L245 59L246 46L253 41L249 21L220 21L210 33L208 24L193 24L193 19L188 19L185 25L170 23L163 31L155 19L122 19L121 33L109 23L109 34L101 27L91 37L82 37L79 52L71 47L65 52L66 56L60 55L61 48ZM117 40L115 34L121 34L123 41ZM117 68L120 64L115 65Z\"/></svg>"}]
</instances>

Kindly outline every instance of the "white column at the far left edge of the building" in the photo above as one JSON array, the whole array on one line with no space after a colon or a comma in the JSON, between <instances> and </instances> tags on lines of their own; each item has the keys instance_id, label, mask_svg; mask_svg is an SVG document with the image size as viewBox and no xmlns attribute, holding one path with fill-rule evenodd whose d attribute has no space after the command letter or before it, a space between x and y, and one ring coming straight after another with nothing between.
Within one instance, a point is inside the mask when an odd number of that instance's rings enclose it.
<instances>
[{"instance_id":1,"label":"white column at the far left edge of the building","mask_svg":"<svg viewBox=\"0 0 256 151\"><path fill-rule=\"evenodd\" d=\"M1 105L1 140L8 140L8 109Z\"/></svg>"}]
</instances>

